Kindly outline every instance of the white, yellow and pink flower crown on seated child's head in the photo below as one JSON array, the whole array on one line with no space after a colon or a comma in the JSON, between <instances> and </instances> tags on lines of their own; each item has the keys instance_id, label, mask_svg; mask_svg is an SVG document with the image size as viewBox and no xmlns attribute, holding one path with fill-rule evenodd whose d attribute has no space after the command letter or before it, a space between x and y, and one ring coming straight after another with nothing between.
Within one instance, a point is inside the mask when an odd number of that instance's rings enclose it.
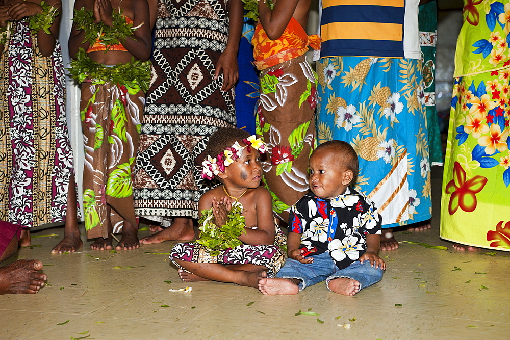
<instances>
[{"instance_id":1,"label":"white, yellow and pink flower crown on seated child's head","mask_svg":"<svg viewBox=\"0 0 510 340\"><path fill-rule=\"evenodd\" d=\"M251 146L258 150L260 153L266 152L266 144L255 135L243 139L243 143L245 143L246 146ZM214 176L220 172L224 172L225 167L234 163L239 156L241 156L246 146L241 146L241 144L236 141L234 145L218 153L215 158L207 155L207 159L202 162L202 178L213 179ZM248 152L251 152L250 148L248 148Z\"/></svg>"}]
</instances>

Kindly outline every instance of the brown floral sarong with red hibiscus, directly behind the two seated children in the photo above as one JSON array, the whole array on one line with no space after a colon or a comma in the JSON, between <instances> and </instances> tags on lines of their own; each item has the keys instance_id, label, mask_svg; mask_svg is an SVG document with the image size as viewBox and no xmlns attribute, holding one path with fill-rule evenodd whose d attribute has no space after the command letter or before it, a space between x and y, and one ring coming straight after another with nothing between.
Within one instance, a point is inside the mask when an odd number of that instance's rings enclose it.
<instances>
[{"instance_id":1,"label":"brown floral sarong with red hibiscus, directly behind the two seated children","mask_svg":"<svg viewBox=\"0 0 510 340\"><path fill-rule=\"evenodd\" d=\"M289 209L309 190L308 161L315 143L317 75L305 56L261 71L257 134L268 146L264 180L273 211L287 221Z\"/></svg>"}]
</instances>

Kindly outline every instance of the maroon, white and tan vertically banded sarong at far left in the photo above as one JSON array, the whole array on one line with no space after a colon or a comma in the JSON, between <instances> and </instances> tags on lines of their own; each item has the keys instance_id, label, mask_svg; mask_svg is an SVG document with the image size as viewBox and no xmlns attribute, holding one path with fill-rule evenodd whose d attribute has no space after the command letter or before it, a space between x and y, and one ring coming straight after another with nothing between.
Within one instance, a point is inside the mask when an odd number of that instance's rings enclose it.
<instances>
[{"instance_id":1,"label":"maroon, white and tan vertically banded sarong at far left","mask_svg":"<svg viewBox=\"0 0 510 340\"><path fill-rule=\"evenodd\" d=\"M28 23L14 24L0 58L0 220L63 222L73 158L60 43L44 57Z\"/></svg>"}]
</instances>

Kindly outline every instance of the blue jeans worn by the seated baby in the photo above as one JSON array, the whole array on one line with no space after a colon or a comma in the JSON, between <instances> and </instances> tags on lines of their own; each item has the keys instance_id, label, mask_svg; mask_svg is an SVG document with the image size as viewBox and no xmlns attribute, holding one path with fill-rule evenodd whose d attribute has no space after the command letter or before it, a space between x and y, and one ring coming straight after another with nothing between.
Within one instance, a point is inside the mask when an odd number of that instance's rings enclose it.
<instances>
[{"instance_id":1,"label":"blue jeans worn by the seated baby","mask_svg":"<svg viewBox=\"0 0 510 340\"><path fill-rule=\"evenodd\" d=\"M326 287L329 289L329 281L340 277L358 280L360 290L370 287L382 279L382 269L372 267L370 261L365 261L363 264L360 261L354 261L349 267L338 269L327 252L310 257L314 259L310 264L288 258L276 277L301 280L300 291L324 280L326 280Z\"/></svg>"}]
</instances>

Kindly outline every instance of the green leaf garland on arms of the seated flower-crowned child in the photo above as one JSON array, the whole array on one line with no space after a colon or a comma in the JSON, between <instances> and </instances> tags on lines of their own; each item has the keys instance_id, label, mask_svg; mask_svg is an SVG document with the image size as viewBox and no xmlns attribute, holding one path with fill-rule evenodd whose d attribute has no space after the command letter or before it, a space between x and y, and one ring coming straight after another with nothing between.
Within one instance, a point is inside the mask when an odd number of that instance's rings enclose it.
<instances>
[{"instance_id":1,"label":"green leaf garland on arms of the seated flower-crowned child","mask_svg":"<svg viewBox=\"0 0 510 340\"><path fill-rule=\"evenodd\" d=\"M225 224L218 227L213 222L213 209L202 210L202 216L198 220L200 238L196 240L196 243L206 247L213 256L218 255L221 249L242 245L239 236L246 233L244 229L246 222L241 212L241 204L234 204L227 215Z\"/></svg>"}]
</instances>

